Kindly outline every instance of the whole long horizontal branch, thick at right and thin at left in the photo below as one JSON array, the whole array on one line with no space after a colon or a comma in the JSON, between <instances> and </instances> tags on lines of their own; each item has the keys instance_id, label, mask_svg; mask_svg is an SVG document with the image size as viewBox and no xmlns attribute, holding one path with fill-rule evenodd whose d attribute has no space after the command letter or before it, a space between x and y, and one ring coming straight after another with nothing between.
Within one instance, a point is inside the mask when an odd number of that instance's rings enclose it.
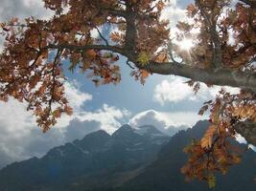
<instances>
[{"instance_id":1,"label":"whole long horizontal branch, thick at right and thin at left","mask_svg":"<svg viewBox=\"0 0 256 191\"><path fill-rule=\"evenodd\" d=\"M239 71L220 70L215 72L213 70L198 69L185 64L178 64L174 62L158 63L153 62L142 67L137 63L136 54L128 52L127 49L117 46L106 46L106 45L48 45L45 49L69 49L77 51L86 50L105 50L114 53L120 53L130 61L132 61L138 68L149 71L154 74L175 74L187 78L191 78L195 81L200 81L206 84L220 85L220 86L231 86L238 88L246 88L252 91L256 91L256 74L245 73Z\"/></svg>"}]
</instances>

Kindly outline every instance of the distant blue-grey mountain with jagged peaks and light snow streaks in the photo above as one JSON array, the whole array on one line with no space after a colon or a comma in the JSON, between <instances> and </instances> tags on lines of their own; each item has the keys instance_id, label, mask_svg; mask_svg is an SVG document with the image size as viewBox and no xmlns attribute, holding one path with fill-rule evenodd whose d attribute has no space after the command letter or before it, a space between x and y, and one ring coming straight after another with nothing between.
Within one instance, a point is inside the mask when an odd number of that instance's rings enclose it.
<instances>
[{"instance_id":1,"label":"distant blue-grey mountain with jagged peaks and light snow streaks","mask_svg":"<svg viewBox=\"0 0 256 191\"><path fill-rule=\"evenodd\" d=\"M0 171L0 191L90 190L121 185L156 159L170 137L151 125L100 130Z\"/></svg>"}]
</instances>

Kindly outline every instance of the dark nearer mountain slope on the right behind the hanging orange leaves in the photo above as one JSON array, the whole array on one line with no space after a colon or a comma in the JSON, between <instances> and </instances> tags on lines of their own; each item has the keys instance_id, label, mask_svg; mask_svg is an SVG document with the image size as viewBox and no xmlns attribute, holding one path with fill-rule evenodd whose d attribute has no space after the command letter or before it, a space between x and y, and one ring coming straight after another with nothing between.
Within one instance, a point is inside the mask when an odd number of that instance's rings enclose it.
<instances>
[{"instance_id":1,"label":"dark nearer mountain slope on the right behind the hanging orange leaves","mask_svg":"<svg viewBox=\"0 0 256 191\"><path fill-rule=\"evenodd\" d=\"M206 182L194 180L185 182L180 168L187 161L187 156L182 152L192 138L201 138L206 128L207 121L199 121L195 127L187 131L180 131L162 147L158 158L144 171L132 180L128 180L118 190L122 191L255 191L256 183L256 153L248 150L242 163L231 167L224 176L217 176L217 185L209 189ZM236 142L238 144L238 142ZM243 145L241 145L243 146Z\"/></svg>"}]
</instances>

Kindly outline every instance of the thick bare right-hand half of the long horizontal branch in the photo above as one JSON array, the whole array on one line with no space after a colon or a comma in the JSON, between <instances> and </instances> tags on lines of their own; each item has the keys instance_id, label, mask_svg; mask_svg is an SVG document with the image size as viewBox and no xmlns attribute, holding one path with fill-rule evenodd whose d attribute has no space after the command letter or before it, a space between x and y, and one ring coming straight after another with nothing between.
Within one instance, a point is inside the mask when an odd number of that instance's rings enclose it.
<instances>
[{"instance_id":1,"label":"thick bare right-hand half of the long horizontal branch","mask_svg":"<svg viewBox=\"0 0 256 191\"><path fill-rule=\"evenodd\" d=\"M256 91L255 73L234 72L229 70L220 70L215 72L213 70L198 69L185 64L176 64L173 62L151 62L147 66L143 67L143 69L155 74L175 74L188 77L206 84L248 88L252 91Z\"/></svg>"}]
</instances>

